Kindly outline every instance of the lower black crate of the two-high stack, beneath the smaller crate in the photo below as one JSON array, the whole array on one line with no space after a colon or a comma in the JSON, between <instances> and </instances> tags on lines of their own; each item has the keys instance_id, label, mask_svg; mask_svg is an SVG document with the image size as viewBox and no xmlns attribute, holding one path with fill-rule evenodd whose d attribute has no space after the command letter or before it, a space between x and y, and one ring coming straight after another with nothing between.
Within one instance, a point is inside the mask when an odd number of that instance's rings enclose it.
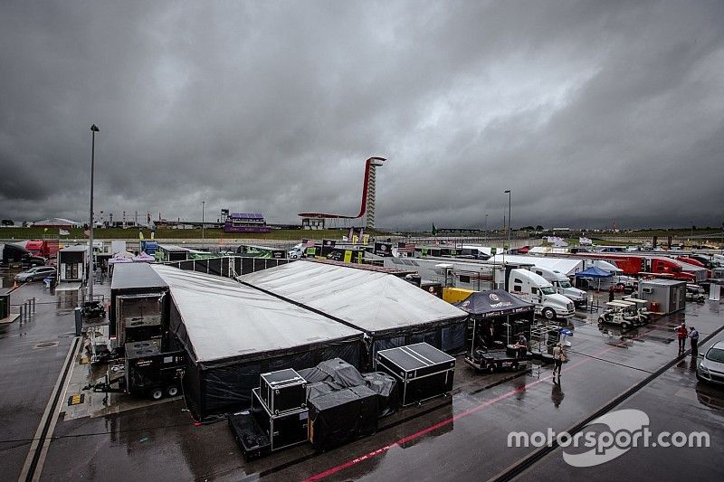
<instances>
[{"instance_id":1,"label":"lower black crate of the two-high stack, beneath the smaller crate","mask_svg":"<svg viewBox=\"0 0 724 482\"><path fill-rule=\"evenodd\" d=\"M306 408L271 413L262 402L260 390L252 390L252 415L271 441L271 450L284 449L307 440L309 411ZM306 389L305 389L306 396Z\"/></svg>"}]
</instances>

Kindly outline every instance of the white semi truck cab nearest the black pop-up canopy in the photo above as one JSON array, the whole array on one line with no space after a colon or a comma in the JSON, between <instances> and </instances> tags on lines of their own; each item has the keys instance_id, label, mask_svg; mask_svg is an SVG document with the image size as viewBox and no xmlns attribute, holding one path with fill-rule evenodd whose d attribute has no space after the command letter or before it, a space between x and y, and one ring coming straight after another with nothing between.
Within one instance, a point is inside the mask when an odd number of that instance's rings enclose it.
<instances>
[{"instance_id":1,"label":"white semi truck cab nearest the black pop-up canopy","mask_svg":"<svg viewBox=\"0 0 724 482\"><path fill-rule=\"evenodd\" d=\"M528 269L510 269L508 291L536 306L536 314L552 320L573 317L573 301L556 292L542 276Z\"/></svg>"}]
</instances>

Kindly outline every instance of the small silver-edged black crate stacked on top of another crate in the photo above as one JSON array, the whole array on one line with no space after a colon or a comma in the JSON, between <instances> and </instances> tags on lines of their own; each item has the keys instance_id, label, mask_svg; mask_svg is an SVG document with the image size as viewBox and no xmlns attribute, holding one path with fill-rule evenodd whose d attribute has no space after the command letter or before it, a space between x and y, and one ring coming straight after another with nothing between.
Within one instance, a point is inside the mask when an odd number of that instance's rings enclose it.
<instances>
[{"instance_id":1,"label":"small silver-edged black crate stacked on top of another crate","mask_svg":"<svg viewBox=\"0 0 724 482\"><path fill-rule=\"evenodd\" d=\"M307 406L307 382L291 368L262 373L259 395L270 413L303 409Z\"/></svg>"}]
</instances>

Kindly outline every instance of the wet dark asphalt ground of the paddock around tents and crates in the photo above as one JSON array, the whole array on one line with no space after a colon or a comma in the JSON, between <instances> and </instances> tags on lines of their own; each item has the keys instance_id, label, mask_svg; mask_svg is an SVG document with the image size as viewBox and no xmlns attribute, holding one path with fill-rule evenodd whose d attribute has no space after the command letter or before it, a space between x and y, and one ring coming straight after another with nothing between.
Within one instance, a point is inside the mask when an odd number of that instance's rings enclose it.
<instances>
[{"instance_id":1,"label":"wet dark asphalt ground of the paddock around tents and crates","mask_svg":"<svg viewBox=\"0 0 724 482\"><path fill-rule=\"evenodd\" d=\"M26 288L22 288L26 289ZM43 288L27 288L43 292ZM17 474L61 369L72 333L72 314L38 305L23 327L0 327L0 417L8 430L0 441L5 475ZM225 422L197 425L183 400L98 418L59 421L43 480L481 480L515 467L533 448L509 448L511 430L569 430L595 411L635 408L648 414L652 430L709 430L709 449L631 449L595 468L573 468L555 449L536 459L521 479L724 478L724 389L698 383L691 357L677 360L673 327L682 319L701 338L721 328L719 303L689 304L685 313L621 333L576 320L569 360L560 383L550 366L527 372L479 374L458 358L452 397L408 407L380 420L373 436L316 453L310 446L285 449L245 462ZM595 319L595 315L589 314ZM44 320L44 321L41 321ZM22 335L21 335L22 334ZM55 348L32 348L59 340ZM714 340L724 339L724 333ZM705 344L705 345L710 345ZM672 367L653 377L663 366ZM623 402L622 393L653 377ZM28 383L32 381L32 383ZM24 396L25 392L30 392ZM22 414L22 415L20 415ZM671 427L671 428L670 428ZM2 477L5 478L5 477ZM17 476L8 477L15 480Z\"/></svg>"}]
</instances>

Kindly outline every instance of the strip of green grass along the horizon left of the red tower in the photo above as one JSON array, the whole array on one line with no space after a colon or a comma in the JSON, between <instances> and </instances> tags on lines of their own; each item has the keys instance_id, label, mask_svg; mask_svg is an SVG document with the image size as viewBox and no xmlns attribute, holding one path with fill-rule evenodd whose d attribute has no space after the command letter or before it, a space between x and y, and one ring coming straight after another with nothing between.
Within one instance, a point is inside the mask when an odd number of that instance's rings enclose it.
<instances>
[{"instance_id":1,"label":"strip of green grass along the horizon left of the red tower","mask_svg":"<svg viewBox=\"0 0 724 482\"><path fill-rule=\"evenodd\" d=\"M87 236L83 234L81 228L73 228L68 230L70 234L67 236L60 236L61 240L80 240L85 239ZM138 232L143 233L143 237L146 240L151 239L151 232L149 230L138 230L138 229L122 229L122 228L108 228L108 229L96 229L93 231L93 237L97 240L138 240ZM40 240L43 237L51 237L53 234L57 234L58 230L49 229L45 231L44 228L2 228L0 229L0 239L3 240ZM333 239L338 240L342 236L346 236L348 230L320 230L320 231L305 231L305 230L272 230L271 232L224 232L220 229L207 229L204 232L206 239L229 239L229 240L281 240L281 241L300 241L302 238L314 238L314 239ZM374 233L370 233L374 234ZM172 229L157 229L155 233L155 239L157 240L200 240L202 238L201 230L172 230Z\"/></svg>"}]
</instances>

